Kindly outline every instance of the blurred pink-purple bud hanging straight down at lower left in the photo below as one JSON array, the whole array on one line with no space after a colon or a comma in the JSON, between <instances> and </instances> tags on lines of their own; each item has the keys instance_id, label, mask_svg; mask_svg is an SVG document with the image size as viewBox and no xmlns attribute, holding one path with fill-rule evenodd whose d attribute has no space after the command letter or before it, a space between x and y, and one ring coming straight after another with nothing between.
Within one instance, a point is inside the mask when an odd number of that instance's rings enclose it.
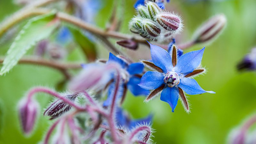
<instances>
[{"instance_id":1,"label":"blurred pink-purple bud hanging straight down at lower left","mask_svg":"<svg viewBox=\"0 0 256 144\"><path fill-rule=\"evenodd\" d=\"M29 134L33 130L36 122L37 111L38 103L35 100L25 98L20 101L20 122L25 134Z\"/></svg>"}]
</instances>

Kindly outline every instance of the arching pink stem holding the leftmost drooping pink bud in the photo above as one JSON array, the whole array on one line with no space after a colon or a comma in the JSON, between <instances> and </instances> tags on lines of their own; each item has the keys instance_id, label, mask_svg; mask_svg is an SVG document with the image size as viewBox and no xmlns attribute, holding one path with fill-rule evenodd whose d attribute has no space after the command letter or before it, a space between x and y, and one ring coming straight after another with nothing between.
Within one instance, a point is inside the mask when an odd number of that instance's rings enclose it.
<instances>
[{"instance_id":1,"label":"arching pink stem holding the leftmost drooping pink bud","mask_svg":"<svg viewBox=\"0 0 256 144\"><path fill-rule=\"evenodd\" d=\"M51 96L54 96L54 97L56 97L56 98L58 98L58 99L60 99L60 100L63 100L65 103L67 103L67 104L69 104L70 106L76 108L77 110L84 110L84 109L85 109L85 108L82 108L82 107L77 106L73 101L68 100L68 99L66 99L65 97L59 95L59 93L57 93L57 92L55 92L55 91L53 91L53 90L44 88L44 87L35 87L35 88L33 88L32 90L30 90L30 91L28 92L28 100L30 100L30 99L34 96L34 94L37 93L37 92L48 93L48 94L50 94Z\"/></svg>"}]
</instances>

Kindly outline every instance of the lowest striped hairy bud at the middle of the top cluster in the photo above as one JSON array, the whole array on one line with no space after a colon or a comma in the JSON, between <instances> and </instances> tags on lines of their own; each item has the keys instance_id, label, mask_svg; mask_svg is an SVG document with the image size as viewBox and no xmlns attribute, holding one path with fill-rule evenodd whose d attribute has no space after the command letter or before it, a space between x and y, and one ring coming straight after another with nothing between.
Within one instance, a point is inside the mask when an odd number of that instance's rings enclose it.
<instances>
[{"instance_id":1,"label":"lowest striped hairy bud at the middle of the top cluster","mask_svg":"<svg viewBox=\"0 0 256 144\"><path fill-rule=\"evenodd\" d=\"M149 38L151 40L154 40L161 34L161 29L158 28L158 26L152 20L149 19L145 19L142 21L142 29L143 33L141 33L140 36Z\"/></svg>"}]
</instances>

